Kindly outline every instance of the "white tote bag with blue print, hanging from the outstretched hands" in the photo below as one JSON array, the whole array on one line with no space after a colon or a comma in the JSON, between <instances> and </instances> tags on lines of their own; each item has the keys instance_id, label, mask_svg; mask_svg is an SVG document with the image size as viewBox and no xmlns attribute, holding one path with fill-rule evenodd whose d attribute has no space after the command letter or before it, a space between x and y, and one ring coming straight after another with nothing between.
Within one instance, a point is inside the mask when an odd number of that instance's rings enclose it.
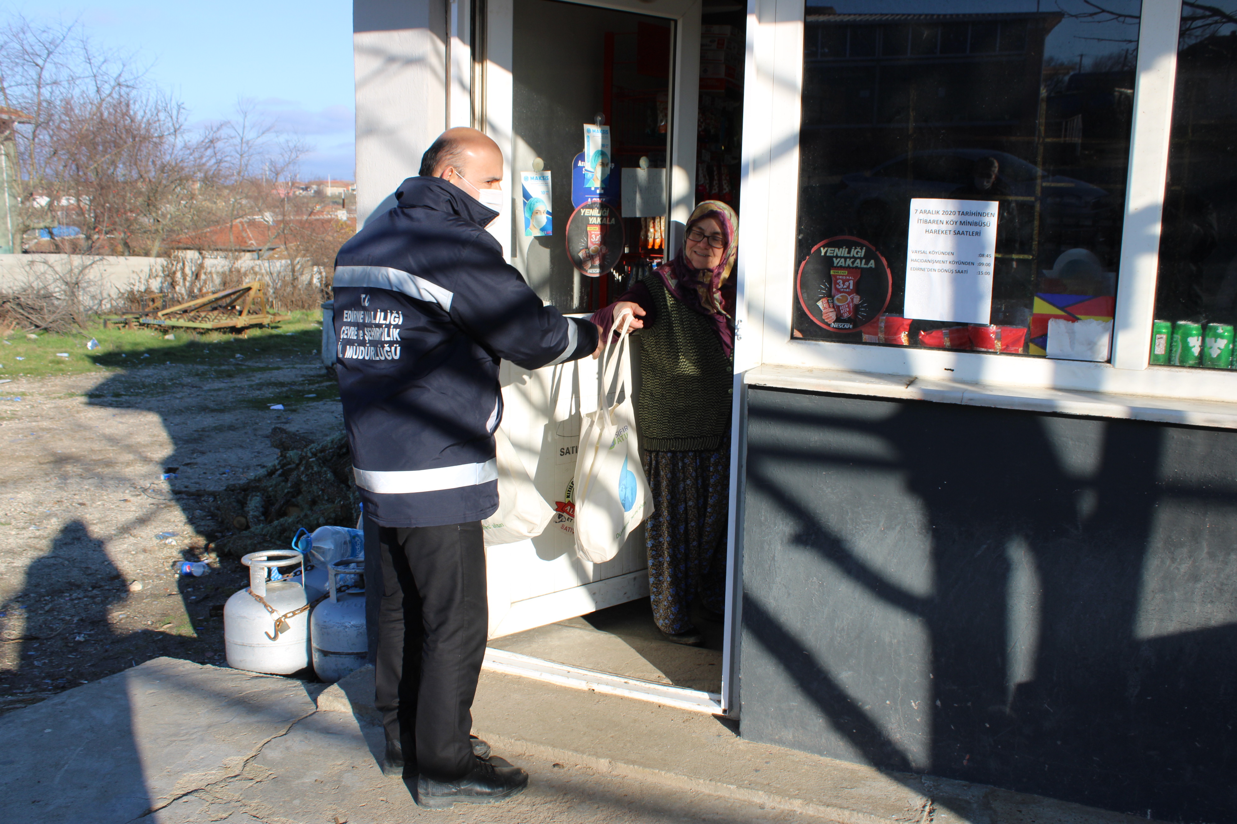
<instances>
[{"instance_id":1,"label":"white tote bag with blue print, hanging from the outstretched hands","mask_svg":"<svg viewBox=\"0 0 1237 824\"><path fill-rule=\"evenodd\" d=\"M575 551L593 563L615 557L631 531L653 513L631 403L630 322L628 315L617 343L611 346L606 341L599 368L597 410L584 415L580 429ZM611 384L615 384L612 404L607 397Z\"/></svg>"}]
</instances>

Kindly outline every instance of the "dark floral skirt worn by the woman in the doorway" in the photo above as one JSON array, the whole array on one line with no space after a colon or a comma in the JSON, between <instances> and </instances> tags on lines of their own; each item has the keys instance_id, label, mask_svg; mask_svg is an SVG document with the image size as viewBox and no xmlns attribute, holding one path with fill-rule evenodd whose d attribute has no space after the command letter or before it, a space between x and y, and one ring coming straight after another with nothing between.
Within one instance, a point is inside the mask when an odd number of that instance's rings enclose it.
<instances>
[{"instance_id":1,"label":"dark floral skirt worn by the woman in the doorway","mask_svg":"<svg viewBox=\"0 0 1237 824\"><path fill-rule=\"evenodd\" d=\"M644 524L653 618L663 633L693 628L691 600L722 612L730 442L695 452L644 452L654 511Z\"/></svg>"}]
</instances>

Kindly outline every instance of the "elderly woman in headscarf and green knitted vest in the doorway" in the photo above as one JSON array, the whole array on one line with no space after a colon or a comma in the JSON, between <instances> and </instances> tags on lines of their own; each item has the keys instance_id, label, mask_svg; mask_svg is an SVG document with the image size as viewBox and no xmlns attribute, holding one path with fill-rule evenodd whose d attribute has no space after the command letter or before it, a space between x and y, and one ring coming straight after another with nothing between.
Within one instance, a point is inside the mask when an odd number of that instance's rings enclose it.
<instances>
[{"instance_id":1,"label":"elderly woman in headscarf and green knitted vest in the doorway","mask_svg":"<svg viewBox=\"0 0 1237 824\"><path fill-rule=\"evenodd\" d=\"M669 640L694 646L704 636L693 600L711 620L725 602L737 230L730 206L701 203L678 256L593 317L611 331L631 313L641 330L636 423L656 509L646 524L653 618Z\"/></svg>"}]
</instances>

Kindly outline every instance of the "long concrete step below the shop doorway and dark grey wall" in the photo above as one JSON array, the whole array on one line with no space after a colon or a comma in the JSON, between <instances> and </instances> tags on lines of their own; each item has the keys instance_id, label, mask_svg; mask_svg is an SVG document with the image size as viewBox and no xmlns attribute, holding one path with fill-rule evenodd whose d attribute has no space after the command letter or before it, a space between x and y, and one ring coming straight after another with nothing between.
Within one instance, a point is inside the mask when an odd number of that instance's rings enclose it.
<instances>
[{"instance_id":1,"label":"long concrete step below the shop doorway and dark grey wall","mask_svg":"<svg viewBox=\"0 0 1237 824\"><path fill-rule=\"evenodd\" d=\"M318 698L376 723L365 667ZM482 672L474 733L518 761L585 767L845 824L1132 824L1131 815L983 784L876 770L738 738L729 719ZM534 776L536 780L536 776Z\"/></svg>"}]
</instances>

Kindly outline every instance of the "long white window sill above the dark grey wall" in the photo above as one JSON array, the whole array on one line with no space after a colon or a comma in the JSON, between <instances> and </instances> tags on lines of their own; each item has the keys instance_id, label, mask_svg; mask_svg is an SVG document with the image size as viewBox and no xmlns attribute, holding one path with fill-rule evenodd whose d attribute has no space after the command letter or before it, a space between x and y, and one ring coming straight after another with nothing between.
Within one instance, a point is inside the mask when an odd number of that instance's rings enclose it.
<instances>
[{"instance_id":1,"label":"long white window sill above the dark grey wall","mask_svg":"<svg viewBox=\"0 0 1237 824\"><path fill-rule=\"evenodd\" d=\"M1237 429L1237 404L1222 400L1184 400L1074 389L1040 389L1037 387L997 387L771 364L745 372L743 383L752 387L802 389L840 395L931 400L964 406L1021 409L1061 415L1121 418L1160 424Z\"/></svg>"}]
</instances>

